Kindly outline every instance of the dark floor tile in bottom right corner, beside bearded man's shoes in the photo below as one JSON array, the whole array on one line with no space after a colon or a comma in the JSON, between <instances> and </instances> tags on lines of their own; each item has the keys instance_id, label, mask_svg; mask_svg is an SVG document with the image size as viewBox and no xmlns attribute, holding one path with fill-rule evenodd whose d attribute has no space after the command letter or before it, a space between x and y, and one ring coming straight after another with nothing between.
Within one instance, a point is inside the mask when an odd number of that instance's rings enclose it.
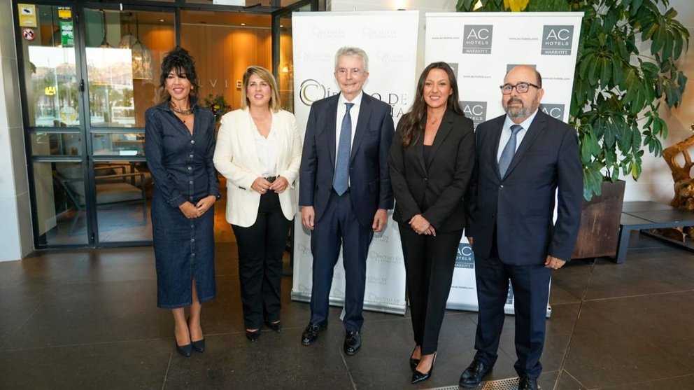
<instances>
[{"instance_id":1,"label":"dark floor tile in bottom right corner, beside bearded man's shoes","mask_svg":"<svg viewBox=\"0 0 694 390\"><path fill-rule=\"evenodd\" d=\"M623 298L628 299L633 298ZM589 303L581 308L564 369L589 389L691 373L678 358Z\"/></svg>"}]
</instances>

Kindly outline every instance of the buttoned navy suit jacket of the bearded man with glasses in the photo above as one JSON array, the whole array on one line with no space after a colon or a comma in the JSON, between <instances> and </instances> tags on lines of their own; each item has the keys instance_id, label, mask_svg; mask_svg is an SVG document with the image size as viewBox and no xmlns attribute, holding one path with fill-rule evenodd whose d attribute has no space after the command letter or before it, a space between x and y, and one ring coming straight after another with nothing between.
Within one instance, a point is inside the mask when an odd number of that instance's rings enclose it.
<instances>
[{"instance_id":1,"label":"buttoned navy suit jacket of the bearded man with glasses","mask_svg":"<svg viewBox=\"0 0 694 390\"><path fill-rule=\"evenodd\" d=\"M502 179L497 151L505 118L488 120L476 130L476 179L466 198L470 202L466 235L474 237L475 256L490 256L496 227L503 263L538 265L547 255L568 261L583 202L576 130L538 111ZM555 193L559 200L556 223Z\"/></svg>"}]
</instances>

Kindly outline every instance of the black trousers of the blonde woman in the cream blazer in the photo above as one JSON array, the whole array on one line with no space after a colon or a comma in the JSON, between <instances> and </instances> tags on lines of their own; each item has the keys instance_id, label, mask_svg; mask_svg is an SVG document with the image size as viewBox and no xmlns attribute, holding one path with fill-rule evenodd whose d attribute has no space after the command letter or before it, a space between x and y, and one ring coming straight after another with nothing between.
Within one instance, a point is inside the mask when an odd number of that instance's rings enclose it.
<instances>
[{"instance_id":1,"label":"black trousers of the blonde woman in the cream blazer","mask_svg":"<svg viewBox=\"0 0 694 390\"><path fill-rule=\"evenodd\" d=\"M282 256L292 221L285 218L278 194L260 195L253 225L232 225L239 247L241 303L246 329L258 329L262 321L280 319Z\"/></svg>"}]
</instances>

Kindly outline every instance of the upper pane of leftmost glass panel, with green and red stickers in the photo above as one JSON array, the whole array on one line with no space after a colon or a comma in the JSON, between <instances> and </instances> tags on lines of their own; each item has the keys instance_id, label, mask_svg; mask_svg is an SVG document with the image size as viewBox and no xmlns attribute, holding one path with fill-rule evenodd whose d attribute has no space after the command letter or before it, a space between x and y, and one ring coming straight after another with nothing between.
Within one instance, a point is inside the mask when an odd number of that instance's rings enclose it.
<instances>
[{"instance_id":1,"label":"upper pane of leftmost glass panel, with green and red stickers","mask_svg":"<svg viewBox=\"0 0 694 390\"><path fill-rule=\"evenodd\" d=\"M29 126L80 125L71 15L69 7L37 5L36 27L20 32Z\"/></svg>"}]
</instances>

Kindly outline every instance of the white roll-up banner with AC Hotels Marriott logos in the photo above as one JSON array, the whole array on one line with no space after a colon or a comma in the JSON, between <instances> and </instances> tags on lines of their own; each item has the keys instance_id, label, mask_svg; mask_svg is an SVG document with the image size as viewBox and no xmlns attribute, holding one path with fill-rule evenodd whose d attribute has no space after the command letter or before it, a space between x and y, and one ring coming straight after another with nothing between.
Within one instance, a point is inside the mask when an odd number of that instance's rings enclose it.
<instances>
[{"instance_id":1,"label":"white roll-up banner with AC Hotels Marriott logos","mask_svg":"<svg viewBox=\"0 0 694 390\"><path fill-rule=\"evenodd\" d=\"M583 13L427 13L425 62L453 67L460 103L475 125L504 113L499 86L518 64L542 75L540 109L567 122L582 18ZM446 307L478 309L474 253L465 238ZM514 312L510 287L505 310Z\"/></svg>"}]
</instances>

